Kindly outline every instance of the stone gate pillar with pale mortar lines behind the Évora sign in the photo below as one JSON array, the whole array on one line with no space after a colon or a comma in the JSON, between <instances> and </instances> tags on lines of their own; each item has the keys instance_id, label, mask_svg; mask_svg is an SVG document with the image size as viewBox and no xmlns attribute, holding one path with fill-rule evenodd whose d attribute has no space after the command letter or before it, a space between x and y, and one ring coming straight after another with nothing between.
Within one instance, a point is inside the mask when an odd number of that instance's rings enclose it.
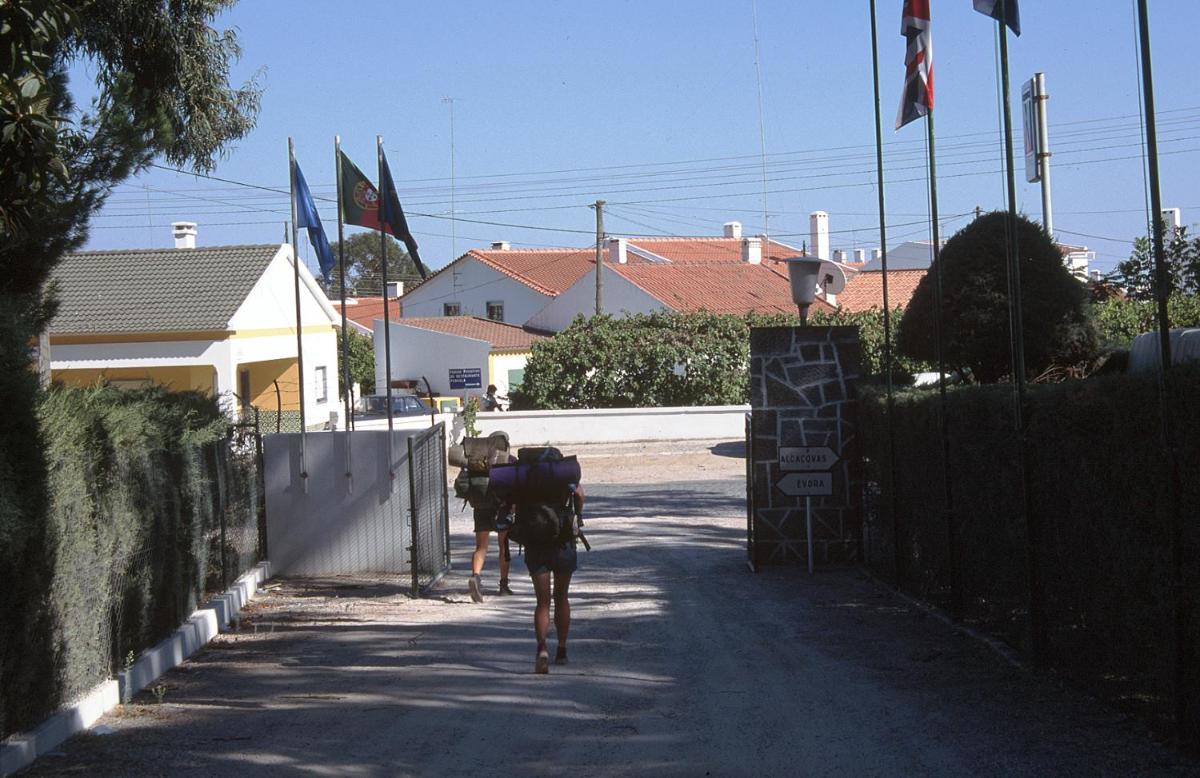
<instances>
[{"instance_id":1,"label":"stone gate pillar with pale mortar lines behind the \u00c9vora sign","mask_svg":"<svg viewBox=\"0 0 1200 778\"><path fill-rule=\"evenodd\" d=\"M857 327L750 330L750 563L856 558L862 539Z\"/></svg>"}]
</instances>

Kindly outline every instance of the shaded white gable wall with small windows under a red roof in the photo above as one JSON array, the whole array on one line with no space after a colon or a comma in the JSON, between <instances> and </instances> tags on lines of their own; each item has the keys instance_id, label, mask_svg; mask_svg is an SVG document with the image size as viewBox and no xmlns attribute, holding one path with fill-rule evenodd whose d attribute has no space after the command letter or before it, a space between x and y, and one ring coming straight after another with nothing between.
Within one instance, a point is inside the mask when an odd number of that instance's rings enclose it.
<instances>
[{"instance_id":1,"label":"shaded white gable wall with small windows under a red roof","mask_svg":"<svg viewBox=\"0 0 1200 778\"><path fill-rule=\"evenodd\" d=\"M401 298L404 318L442 316L443 304L458 303L464 316L487 318L487 303L504 303L504 321L522 324L552 298L464 255Z\"/></svg>"}]
</instances>

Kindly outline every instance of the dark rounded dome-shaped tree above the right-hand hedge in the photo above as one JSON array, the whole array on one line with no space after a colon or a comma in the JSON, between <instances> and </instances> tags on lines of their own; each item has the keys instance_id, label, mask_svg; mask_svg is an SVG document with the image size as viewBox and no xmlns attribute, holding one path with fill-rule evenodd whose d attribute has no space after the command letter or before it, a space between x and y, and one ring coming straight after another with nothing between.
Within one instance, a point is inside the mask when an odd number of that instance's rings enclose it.
<instances>
[{"instance_id":1,"label":"dark rounded dome-shaped tree above the right-hand hedge","mask_svg":"<svg viewBox=\"0 0 1200 778\"><path fill-rule=\"evenodd\" d=\"M942 271L942 343L947 367L971 371L980 382L1012 373L1008 327L1007 226L996 211L971 222L946 243ZM1040 226L1016 220L1021 268L1025 367L1039 375L1051 365L1091 358L1096 330L1088 318L1088 292L1062 263L1057 246ZM900 322L896 345L928 363L934 353L934 273L922 279Z\"/></svg>"}]
</instances>

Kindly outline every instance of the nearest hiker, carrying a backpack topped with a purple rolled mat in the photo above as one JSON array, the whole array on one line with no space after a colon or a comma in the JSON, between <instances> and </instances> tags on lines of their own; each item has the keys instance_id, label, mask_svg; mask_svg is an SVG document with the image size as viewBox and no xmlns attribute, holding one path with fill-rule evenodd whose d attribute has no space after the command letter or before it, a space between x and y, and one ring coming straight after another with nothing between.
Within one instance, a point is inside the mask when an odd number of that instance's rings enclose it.
<instances>
[{"instance_id":1,"label":"nearest hiker, carrying a backpack topped with a purple rolled mat","mask_svg":"<svg viewBox=\"0 0 1200 778\"><path fill-rule=\"evenodd\" d=\"M551 602L558 646L554 664L566 664L566 636L571 626L568 592L578 559L576 539L587 546L580 465L552 447L522 448L514 465L492 468L490 489L514 505L509 537L524 546L526 568L538 603L533 626L538 639L534 672L550 672Z\"/></svg>"}]
</instances>

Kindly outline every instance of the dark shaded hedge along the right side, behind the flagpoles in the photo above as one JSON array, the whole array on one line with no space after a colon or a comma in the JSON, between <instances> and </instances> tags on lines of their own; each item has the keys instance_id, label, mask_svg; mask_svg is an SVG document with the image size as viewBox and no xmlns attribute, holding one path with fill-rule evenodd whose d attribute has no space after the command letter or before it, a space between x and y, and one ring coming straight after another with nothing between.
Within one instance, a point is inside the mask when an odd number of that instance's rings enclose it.
<instances>
[{"instance_id":1,"label":"dark shaded hedge along the right side, behind the flagpoles","mask_svg":"<svg viewBox=\"0 0 1200 778\"><path fill-rule=\"evenodd\" d=\"M1175 527L1168 499L1153 377L1105 376L1034 385L1026 407L1030 505L1039 528L1037 592L1048 621L1043 658L1097 694L1166 726L1176 694L1200 706L1200 367L1172 371L1169 407L1182 472L1184 579L1182 614L1190 668L1175 671L1172 588ZM947 393L950 480L958 553L948 553L941 480L938 399L908 390L895 399L895 487L890 485L886 402L874 390L860 405L871 502L866 563L943 609L961 581L966 623L1028 652L1028 551L1020 459L1007 384ZM874 492L874 493L872 493ZM893 501L895 516L893 522ZM1193 711L1200 708L1193 707ZM1195 716L1195 714L1193 714ZM1194 722L1193 722L1194 723ZM1200 743L1198 743L1200 744Z\"/></svg>"}]
</instances>

